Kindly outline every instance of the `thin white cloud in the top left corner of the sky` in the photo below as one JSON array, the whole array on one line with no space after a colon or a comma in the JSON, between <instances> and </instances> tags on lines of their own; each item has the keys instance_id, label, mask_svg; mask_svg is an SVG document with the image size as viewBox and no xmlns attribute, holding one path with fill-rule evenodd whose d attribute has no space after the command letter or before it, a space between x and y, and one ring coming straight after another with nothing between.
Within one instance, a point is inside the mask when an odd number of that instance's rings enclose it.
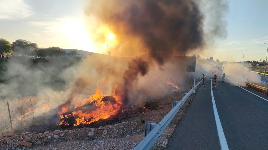
<instances>
[{"instance_id":1,"label":"thin white cloud in the top left corner of the sky","mask_svg":"<svg viewBox=\"0 0 268 150\"><path fill-rule=\"evenodd\" d=\"M0 19L20 19L33 15L24 0L0 0Z\"/></svg>"}]
</instances>

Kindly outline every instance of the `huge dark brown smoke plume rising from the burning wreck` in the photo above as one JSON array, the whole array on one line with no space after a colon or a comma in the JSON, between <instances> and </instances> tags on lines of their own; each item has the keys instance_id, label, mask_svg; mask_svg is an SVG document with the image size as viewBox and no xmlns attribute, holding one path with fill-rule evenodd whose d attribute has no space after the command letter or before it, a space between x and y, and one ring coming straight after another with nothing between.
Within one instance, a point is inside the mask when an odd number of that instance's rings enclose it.
<instances>
[{"instance_id":1,"label":"huge dark brown smoke plume rising from the burning wreck","mask_svg":"<svg viewBox=\"0 0 268 150\"><path fill-rule=\"evenodd\" d=\"M135 37L144 45L144 49L124 45L132 54L147 54L133 59L124 73L125 102L138 76L148 72L150 62L162 66L173 55L185 55L204 45L203 15L194 0L91 0L85 12L110 28L118 43Z\"/></svg>"}]
</instances>

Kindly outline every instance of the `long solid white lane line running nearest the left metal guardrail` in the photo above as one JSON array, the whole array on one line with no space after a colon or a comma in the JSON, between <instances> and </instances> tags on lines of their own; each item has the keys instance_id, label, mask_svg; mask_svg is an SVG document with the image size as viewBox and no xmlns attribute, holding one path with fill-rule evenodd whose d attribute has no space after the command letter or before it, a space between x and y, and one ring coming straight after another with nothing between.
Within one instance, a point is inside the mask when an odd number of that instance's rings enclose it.
<instances>
[{"instance_id":1,"label":"long solid white lane line running nearest the left metal guardrail","mask_svg":"<svg viewBox=\"0 0 268 150\"><path fill-rule=\"evenodd\" d=\"M227 142L226 142L226 138L225 138L225 135L224 135L221 123L220 123L220 117L219 117L219 114L217 111L217 107L216 107L216 103L215 103L215 99L214 99L214 95L213 95L213 91L212 91L212 79L210 80L210 88L211 88L211 99L212 99L213 111L214 111L218 136L219 136L219 140L220 140L220 147L222 150L229 150Z\"/></svg>"}]
</instances>

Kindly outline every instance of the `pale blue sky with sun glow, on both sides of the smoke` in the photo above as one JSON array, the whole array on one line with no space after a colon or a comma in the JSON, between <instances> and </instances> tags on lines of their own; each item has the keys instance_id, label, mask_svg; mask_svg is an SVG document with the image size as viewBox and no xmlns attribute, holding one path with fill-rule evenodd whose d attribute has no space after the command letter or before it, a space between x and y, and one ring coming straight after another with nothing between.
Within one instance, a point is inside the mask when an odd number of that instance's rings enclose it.
<instances>
[{"instance_id":1,"label":"pale blue sky with sun glow, on both sides of the smoke","mask_svg":"<svg viewBox=\"0 0 268 150\"><path fill-rule=\"evenodd\" d=\"M208 2L211 0L207 0ZM85 22L86 0L0 0L0 38L18 38L38 47L59 46L98 52ZM216 39L205 55L214 60L236 62L266 59L268 1L228 0L227 37ZM209 5L209 3L208 3ZM106 44L104 44L106 45ZM197 54L199 55L199 54Z\"/></svg>"}]
</instances>

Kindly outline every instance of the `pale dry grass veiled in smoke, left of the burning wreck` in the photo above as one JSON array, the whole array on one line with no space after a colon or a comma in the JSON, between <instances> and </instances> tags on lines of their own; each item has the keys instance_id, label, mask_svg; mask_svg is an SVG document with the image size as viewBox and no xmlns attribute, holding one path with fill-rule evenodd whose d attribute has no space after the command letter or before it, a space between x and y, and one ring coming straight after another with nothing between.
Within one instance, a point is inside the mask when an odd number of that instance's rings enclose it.
<instances>
[{"instance_id":1,"label":"pale dry grass veiled in smoke, left of the burning wreck","mask_svg":"<svg viewBox=\"0 0 268 150\"><path fill-rule=\"evenodd\" d=\"M57 113L54 108L65 99L65 92L42 93L38 96L27 96L0 101L0 135L10 135L11 127L7 108L9 102L13 130L23 131L30 125L38 125L44 113Z\"/></svg>"}]
</instances>

